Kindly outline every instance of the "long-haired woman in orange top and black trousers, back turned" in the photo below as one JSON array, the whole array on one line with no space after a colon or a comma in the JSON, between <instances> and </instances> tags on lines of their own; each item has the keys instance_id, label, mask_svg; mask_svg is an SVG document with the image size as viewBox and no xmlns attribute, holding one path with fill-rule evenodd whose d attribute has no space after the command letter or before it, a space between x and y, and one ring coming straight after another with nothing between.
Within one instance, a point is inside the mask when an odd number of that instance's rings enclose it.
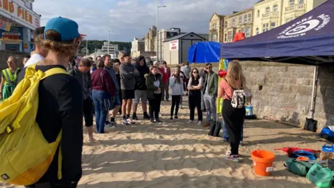
<instances>
[{"instance_id":1,"label":"long-haired woman in orange top and black trousers, back turned","mask_svg":"<svg viewBox=\"0 0 334 188\"><path fill-rule=\"evenodd\" d=\"M238 61L228 63L228 74L219 84L218 97L222 97L224 100L223 120L230 136L228 141L230 142L231 151L227 152L227 159L239 162L239 143L246 110L245 108L237 109L232 107L231 99L234 89L244 89L247 97L250 97L250 92L246 88L245 77Z\"/></svg>"}]
</instances>

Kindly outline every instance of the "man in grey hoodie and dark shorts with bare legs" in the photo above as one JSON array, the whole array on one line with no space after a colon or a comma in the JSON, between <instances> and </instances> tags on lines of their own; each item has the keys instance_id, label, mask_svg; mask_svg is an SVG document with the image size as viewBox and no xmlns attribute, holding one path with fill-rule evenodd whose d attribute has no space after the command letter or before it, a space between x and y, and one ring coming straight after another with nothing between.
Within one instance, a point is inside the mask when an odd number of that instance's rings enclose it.
<instances>
[{"instance_id":1,"label":"man in grey hoodie and dark shorts with bare legs","mask_svg":"<svg viewBox=\"0 0 334 188\"><path fill-rule=\"evenodd\" d=\"M134 65L131 64L131 56L126 52L120 52L118 58L122 63L120 65L120 89L122 90L122 116L123 124L134 123L130 119L132 109L132 99L134 99L134 88L136 86L136 77L140 73Z\"/></svg>"}]
</instances>

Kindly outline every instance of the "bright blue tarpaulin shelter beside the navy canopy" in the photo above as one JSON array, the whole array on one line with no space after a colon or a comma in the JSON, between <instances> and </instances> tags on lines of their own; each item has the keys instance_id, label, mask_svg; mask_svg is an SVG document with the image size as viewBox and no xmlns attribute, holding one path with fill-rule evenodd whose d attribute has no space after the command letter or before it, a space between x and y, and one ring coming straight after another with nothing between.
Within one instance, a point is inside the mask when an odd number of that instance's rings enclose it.
<instances>
[{"instance_id":1,"label":"bright blue tarpaulin shelter beside the navy canopy","mask_svg":"<svg viewBox=\"0 0 334 188\"><path fill-rule=\"evenodd\" d=\"M189 63L213 63L219 62L221 53L220 42L197 42L189 48Z\"/></svg>"}]
</instances>

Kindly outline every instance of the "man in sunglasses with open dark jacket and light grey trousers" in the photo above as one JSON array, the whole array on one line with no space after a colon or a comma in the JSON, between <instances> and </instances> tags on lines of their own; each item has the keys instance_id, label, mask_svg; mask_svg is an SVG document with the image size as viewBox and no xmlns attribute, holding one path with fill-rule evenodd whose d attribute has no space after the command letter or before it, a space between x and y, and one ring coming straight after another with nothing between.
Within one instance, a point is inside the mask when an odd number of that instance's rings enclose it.
<instances>
[{"instance_id":1,"label":"man in sunglasses with open dark jacket and light grey trousers","mask_svg":"<svg viewBox=\"0 0 334 188\"><path fill-rule=\"evenodd\" d=\"M218 75L212 70L212 64L205 64L207 75L205 76L205 83L203 88L203 99L207 109L207 123L205 127L210 126L213 120L216 123L216 98L218 93Z\"/></svg>"}]
</instances>

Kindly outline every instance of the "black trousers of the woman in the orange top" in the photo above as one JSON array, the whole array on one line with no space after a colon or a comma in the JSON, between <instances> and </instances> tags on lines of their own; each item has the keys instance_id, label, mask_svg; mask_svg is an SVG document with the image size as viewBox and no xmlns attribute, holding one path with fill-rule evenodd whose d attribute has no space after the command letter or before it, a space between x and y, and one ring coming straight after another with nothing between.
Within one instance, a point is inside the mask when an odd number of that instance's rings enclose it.
<instances>
[{"instance_id":1,"label":"black trousers of the woman in the orange top","mask_svg":"<svg viewBox=\"0 0 334 188\"><path fill-rule=\"evenodd\" d=\"M234 109L231 100L223 102L223 120L226 125L232 155L239 155L239 144L241 140L241 130L244 125L246 109Z\"/></svg>"}]
</instances>

